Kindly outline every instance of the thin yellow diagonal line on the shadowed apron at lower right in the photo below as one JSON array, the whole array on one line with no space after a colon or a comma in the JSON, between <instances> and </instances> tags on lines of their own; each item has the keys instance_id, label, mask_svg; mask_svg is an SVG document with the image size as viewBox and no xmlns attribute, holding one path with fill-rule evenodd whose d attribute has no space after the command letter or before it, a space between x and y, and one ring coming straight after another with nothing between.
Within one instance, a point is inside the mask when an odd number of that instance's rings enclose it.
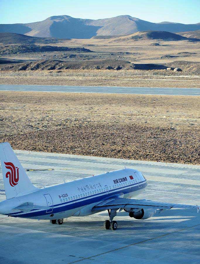
<instances>
[{"instance_id":1,"label":"thin yellow diagonal line on the shadowed apron at lower right","mask_svg":"<svg viewBox=\"0 0 200 264\"><path fill-rule=\"evenodd\" d=\"M173 233L177 233L177 232L180 232L180 231L183 231L183 230L186 230L186 229L189 229L189 228L193 228L193 227L196 227L196 226L199 226L199 225L200 224L195 225L195 226L189 226L189 227L186 227L186 228L183 228L183 229L174 231L174 232L170 232L170 233L167 233L167 234L164 234L164 235L161 235L161 236L156 236L156 237L153 237L153 238L149 238L149 239L146 239L146 240L143 240L143 241L140 241L140 242L136 242L136 243L133 243L133 244L130 244L130 245L127 245L127 246L123 246L123 247L120 247L120 248L115 248L113 250L106 251L106 252L103 252L103 253L100 253L100 254L97 254L97 255L93 255L93 256L88 257L88 258L83 258L83 259L80 259L80 260L76 260L76 261L73 261L73 262L69 262L67 264L76 263L76 262L79 262L79 261L82 261L82 260L86 260L86 259L90 259L91 260L91 258L95 258L95 257L98 257L100 255L104 255L104 254L107 254L107 253L111 253L111 252L114 252L114 251L117 251L117 250L120 250L120 249L123 249L123 248L128 248L130 246L134 246L134 245L141 244L141 243L144 243L144 242L147 242L147 241L151 241L151 240L156 239L156 238L161 238L163 236L168 236L168 235L171 235Z\"/></svg>"}]
</instances>

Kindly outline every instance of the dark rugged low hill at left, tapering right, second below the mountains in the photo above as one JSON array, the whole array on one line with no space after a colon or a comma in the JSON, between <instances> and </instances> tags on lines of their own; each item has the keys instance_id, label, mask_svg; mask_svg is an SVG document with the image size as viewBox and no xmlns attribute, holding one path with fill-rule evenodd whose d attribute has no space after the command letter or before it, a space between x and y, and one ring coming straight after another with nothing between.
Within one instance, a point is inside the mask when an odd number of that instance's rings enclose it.
<instances>
[{"instance_id":1,"label":"dark rugged low hill at left, tapering right, second below the mountains","mask_svg":"<svg viewBox=\"0 0 200 264\"><path fill-rule=\"evenodd\" d=\"M85 48L68 48L57 46L37 46L37 45L8 45L0 47L0 54L22 54L30 52L53 52L53 51L73 51L73 52L93 52Z\"/></svg>"}]
</instances>

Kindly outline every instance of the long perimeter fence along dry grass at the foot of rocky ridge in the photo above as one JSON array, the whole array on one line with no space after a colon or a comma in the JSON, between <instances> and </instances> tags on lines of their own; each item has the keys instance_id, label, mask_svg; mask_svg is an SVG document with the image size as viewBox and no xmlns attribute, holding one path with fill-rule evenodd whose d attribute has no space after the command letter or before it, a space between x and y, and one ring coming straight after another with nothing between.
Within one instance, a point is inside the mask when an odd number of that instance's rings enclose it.
<instances>
[{"instance_id":1,"label":"long perimeter fence along dry grass at the foot of rocky ridge","mask_svg":"<svg viewBox=\"0 0 200 264\"><path fill-rule=\"evenodd\" d=\"M13 77L13 76L33 76L33 77L131 77L131 76L158 76L158 77L196 77L200 78L199 72L174 72L174 71L87 71L87 72L31 72L31 71L23 71L23 72L4 72L0 71L0 77Z\"/></svg>"}]
</instances>

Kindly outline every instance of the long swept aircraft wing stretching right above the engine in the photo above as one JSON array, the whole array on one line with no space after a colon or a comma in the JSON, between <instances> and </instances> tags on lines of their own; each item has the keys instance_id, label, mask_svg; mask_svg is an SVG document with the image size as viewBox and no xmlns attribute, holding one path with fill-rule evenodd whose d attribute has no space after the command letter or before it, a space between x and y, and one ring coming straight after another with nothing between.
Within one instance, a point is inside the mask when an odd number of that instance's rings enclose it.
<instances>
[{"instance_id":1,"label":"long swept aircraft wing stretching right above the engine","mask_svg":"<svg viewBox=\"0 0 200 264\"><path fill-rule=\"evenodd\" d=\"M171 209L171 208L183 208L183 209L197 209L199 213L199 206L189 204L173 204L164 202L155 202L151 200L137 200L137 199L125 199L125 198L111 198L103 202L100 202L95 207L94 211L107 210L107 209L126 209L126 208L155 208L155 209Z\"/></svg>"}]
</instances>

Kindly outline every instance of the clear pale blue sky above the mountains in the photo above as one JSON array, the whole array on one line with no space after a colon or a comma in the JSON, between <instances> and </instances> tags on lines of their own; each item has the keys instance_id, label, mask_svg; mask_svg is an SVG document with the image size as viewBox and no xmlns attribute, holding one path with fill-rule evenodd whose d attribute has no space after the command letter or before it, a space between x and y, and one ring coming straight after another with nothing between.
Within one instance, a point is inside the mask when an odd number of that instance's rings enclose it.
<instances>
[{"instance_id":1,"label":"clear pale blue sky above the mountains","mask_svg":"<svg viewBox=\"0 0 200 264\"><path fill-rule=\"evenodd\" d=\"M109 18L130 15L150 22L200 22L200 0L0 0L0 23L30 23L49 16Z\"/></svg>"}]
</instances>

